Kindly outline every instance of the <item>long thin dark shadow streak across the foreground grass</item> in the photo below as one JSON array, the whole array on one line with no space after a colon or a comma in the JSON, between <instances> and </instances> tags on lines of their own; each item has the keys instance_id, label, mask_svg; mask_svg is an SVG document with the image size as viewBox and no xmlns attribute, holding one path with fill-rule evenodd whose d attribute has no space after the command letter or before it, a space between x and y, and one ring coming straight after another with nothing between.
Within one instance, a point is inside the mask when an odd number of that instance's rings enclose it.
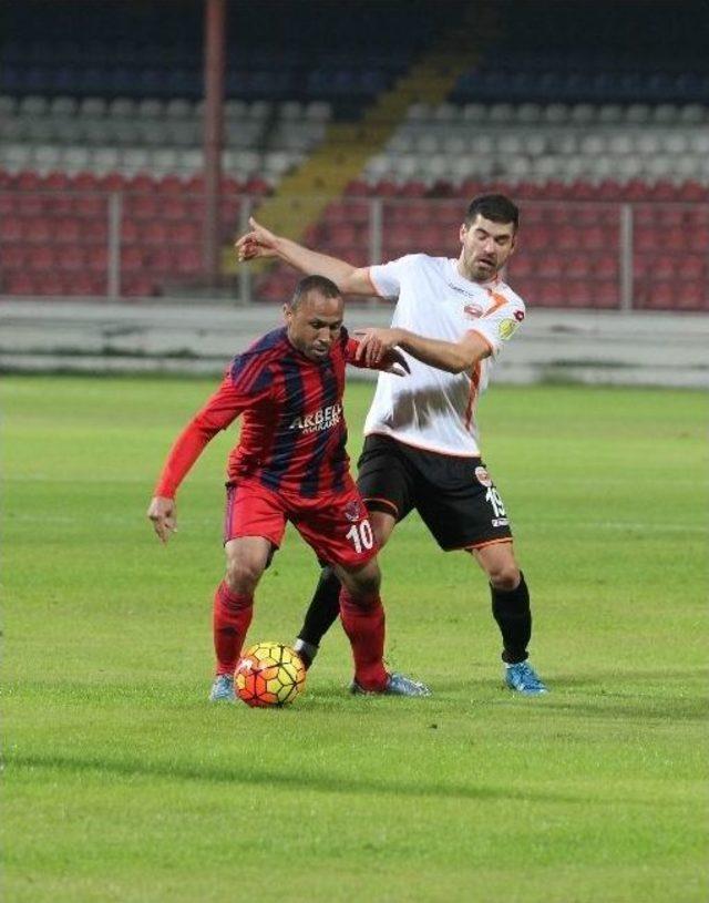
<instances>
[{"instance_id":1,"label":"long thin dark shadow streak across the foreground grass","mask_svg":"<svg viewBox=\"0 0 709 903\"><path fill-rule=\"evenodd\" d=\"M333 774L308 774L259 767L253 760L232 762L228 767L209 767L187 762L146 762L137 759L100 759L90 757L69 757L50 753L13 753L7 757L9 769L51 769L66 774L84 776L94 772L96 777L114 776L117 778L157 778L195 781L198 783L244 783L268 788L279 787L285 790L306 790L317 793L391 793L397 797L433 797L456 800L497 800L532 803L566 803L587 805L593 802L587 796L573 796L557 792L495 787L474 787L465 783L425 783L420 781L389 781L363 774L358 778L343 778ZM634 799L629 802L643 804L645 801ZM649 802L649 801L648 801ZM654 803L650 803L654 804Z\"/></svg>"}]
</instances>

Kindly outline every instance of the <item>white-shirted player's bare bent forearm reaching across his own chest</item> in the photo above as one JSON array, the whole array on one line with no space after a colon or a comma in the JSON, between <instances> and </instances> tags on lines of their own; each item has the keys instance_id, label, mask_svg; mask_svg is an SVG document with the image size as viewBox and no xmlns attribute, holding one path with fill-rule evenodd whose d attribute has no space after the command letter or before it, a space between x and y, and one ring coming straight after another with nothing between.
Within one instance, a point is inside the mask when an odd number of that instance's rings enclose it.
<instances>
[{"instance_id":1,"label":"white-shirted player's bare bent forearm reaching across his own chest","mask_svg":"<svg viewBox=\"0 0 709 903\"><path fill-rule=\"evenodd\" d=\"M490 356L490 346L485 339L473 331L466 332L456 342L429 339L408 329L370 328L356 335L360 340L357 349L358 360L363 360L368 367L377 366L381 357L393 348L401 348L423 363L449 373L471 370L479 361Z\"/></svg>"}]
</instances>

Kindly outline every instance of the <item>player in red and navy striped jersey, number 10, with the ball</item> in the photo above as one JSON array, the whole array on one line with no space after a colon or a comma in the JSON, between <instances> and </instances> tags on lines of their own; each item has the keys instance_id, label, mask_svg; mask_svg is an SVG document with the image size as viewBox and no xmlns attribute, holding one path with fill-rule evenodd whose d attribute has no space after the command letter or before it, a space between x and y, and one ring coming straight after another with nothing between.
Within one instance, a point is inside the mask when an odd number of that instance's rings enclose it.
<instances>
[{"instance_id":1,"label":"player in red and navy striped jersey, number 10, with the ball","mask_svg":"<svg viewBox=\"0 0 709 903\"><path fill-rule=\"evenodd\" d=\"M251 620L258 581L290 521L342 583L342 626L352 646L356 692L427 696L422 684L383 665L384 612L377 545L350 476L342 412L345 366L357 341L342 326L342 296L322 276L301 279L284 308L286 326L232 361L222 386L177 438L147 516L162 542L176 527L175 494L207 442L239 414L228 461L226 575L214 597L217 667L213 701L234 700L234 671ZM403 358L378 369L402 374Z\"/></svg>"}]
</instances>

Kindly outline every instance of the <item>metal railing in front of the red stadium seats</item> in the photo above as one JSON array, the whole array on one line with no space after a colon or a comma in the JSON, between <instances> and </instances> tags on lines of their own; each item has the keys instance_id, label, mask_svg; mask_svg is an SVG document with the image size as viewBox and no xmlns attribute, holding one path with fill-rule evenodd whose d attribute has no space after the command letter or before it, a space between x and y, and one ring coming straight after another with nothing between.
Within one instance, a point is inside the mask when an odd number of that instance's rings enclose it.
<instances>
[{"instance_id":1,"label":"metal railing in front of the red stadium seats","mask_svg":"<svg viewBox=\"0 0 709 903\"><path fill-rule=\"evenodd\" d=\"M269 222L292 222L302 198L269 198ZM0 295L199 296L248 305L287 297L282 266L236 266L234 238L260 198L225 195L217 285L207 280L202 195L0 192ZM356 265L424 252L456 257L461 198L345 197L301 225L310 247ZM531 305L584 309L709 310L709 205L524 201L506 278Z\"/></svg>"}]
</instances>

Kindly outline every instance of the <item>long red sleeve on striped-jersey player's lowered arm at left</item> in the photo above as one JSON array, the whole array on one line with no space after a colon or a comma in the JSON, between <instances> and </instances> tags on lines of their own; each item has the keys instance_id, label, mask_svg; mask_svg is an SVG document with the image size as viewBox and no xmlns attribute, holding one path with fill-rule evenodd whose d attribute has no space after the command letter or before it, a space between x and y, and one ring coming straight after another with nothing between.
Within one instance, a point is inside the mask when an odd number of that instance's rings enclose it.
<instances>
[{"instance_id":1,"label":"long red sleeve on striped-jersey player's lowered arm at left","mask_svg":"<svg viewBox=\"0 0 709 903\"><path fill-rule=\"evenodd\" d=\"M270 370L248 374L238 370L239 358L229 368L217 391L208 399L175 440L155 486L155 495L173 499L207 443L247 408L270 394Z\"/></svg>"}]
</instances>

